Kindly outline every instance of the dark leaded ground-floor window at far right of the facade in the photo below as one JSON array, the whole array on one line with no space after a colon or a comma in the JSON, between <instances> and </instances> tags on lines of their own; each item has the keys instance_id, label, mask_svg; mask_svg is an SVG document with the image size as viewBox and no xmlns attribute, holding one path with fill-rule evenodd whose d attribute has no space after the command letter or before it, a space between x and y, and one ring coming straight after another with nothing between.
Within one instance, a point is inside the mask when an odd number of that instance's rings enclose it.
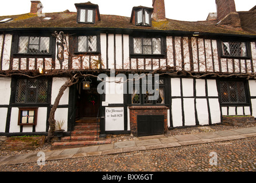
<instances>
[{"instance_id":1,"label":"dark leaded ground-floor window at far right of the facade","mask_svg":"<svg viewBox=\"0 0 256 183\"><path fill-rule=\"evenodd\" d=\"M245 84L242 81L220 81L222 103L246 103Z\"/></svg>"}]
</instances>

